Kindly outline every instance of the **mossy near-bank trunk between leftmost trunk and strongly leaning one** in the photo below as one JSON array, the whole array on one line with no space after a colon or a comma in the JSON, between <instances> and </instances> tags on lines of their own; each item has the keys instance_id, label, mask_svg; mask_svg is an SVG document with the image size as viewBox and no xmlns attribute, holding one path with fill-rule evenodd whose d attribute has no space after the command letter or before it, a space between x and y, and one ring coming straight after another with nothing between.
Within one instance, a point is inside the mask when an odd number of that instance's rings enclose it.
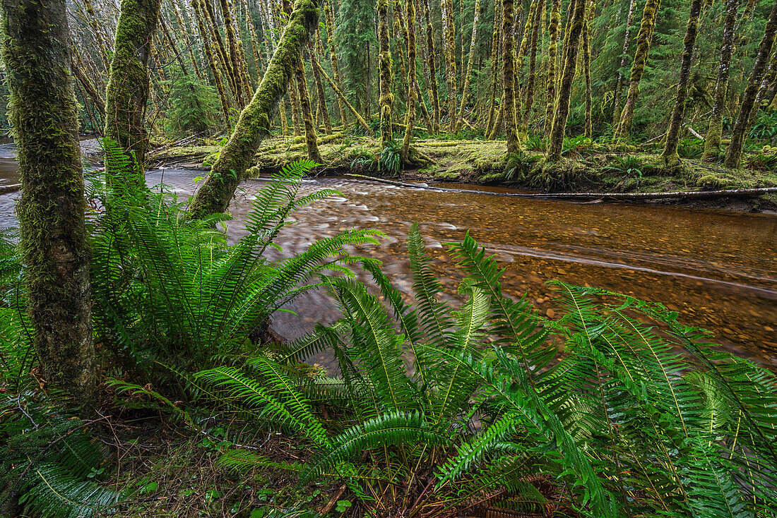
<instances>
[{"instance_id":1,"label":"mossy near-bank trunk between leftmost trunk and strongly leaning one","mask_svg":"<svg viewBox=\"0 0 777 518\"><path fill-rule=\"evenodd\" d=\"M145 107L148 57L159 19L160 0L122 0L106 95L105 136L142 164L148 148ZM142 177L130 179L145 186Z\"/></svg>"}]
</instances>

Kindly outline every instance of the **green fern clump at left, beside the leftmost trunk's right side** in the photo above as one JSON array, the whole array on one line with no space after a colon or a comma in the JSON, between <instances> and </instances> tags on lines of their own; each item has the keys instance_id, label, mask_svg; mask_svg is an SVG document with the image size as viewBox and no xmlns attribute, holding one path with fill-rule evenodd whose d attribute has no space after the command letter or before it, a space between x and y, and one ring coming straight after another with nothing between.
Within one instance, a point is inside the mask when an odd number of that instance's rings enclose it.
<instances>
[{"instance_id":1,"label":"green fern clump at left, beside the leftmost trunk's right side","mask_svg":"<svg viewBox=\"0 0 777 518\"><path fill-rule=\"evenodd\" d=\"M99 341L146 372L160 364L199 370L216 355L251 346L278 308L319 283L325 269L353 260L343 245L375 242L377 231L346 231L313 242L298 256L270 261L268 247L299 207L333 196L298 196L312 162L288 165L256 194L246 235L228 245L215 214L192 220L174 197L111 198L92 222L92 294Z\"/></svg>"}]
</instances>

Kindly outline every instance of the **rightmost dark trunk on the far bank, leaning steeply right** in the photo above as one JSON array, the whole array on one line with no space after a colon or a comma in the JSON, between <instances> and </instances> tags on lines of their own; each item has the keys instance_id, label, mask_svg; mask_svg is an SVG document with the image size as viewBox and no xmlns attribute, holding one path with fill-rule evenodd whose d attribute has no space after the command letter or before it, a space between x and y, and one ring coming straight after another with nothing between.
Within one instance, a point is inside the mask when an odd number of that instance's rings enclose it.
<instances>
[{"instance_id":1,"label":"rightmost dark trunk on the far bank, leaning steeply right","mask_svg":"<svg viewBox=\"0 0 777 518\"><path fill-rule=\"evenodd\" d=\"M728 151L726 151L726 160L723 162L729 169L739 168L744 138L747 136L747 131L750 130L750 113L755 106L758 89L761 87L761 80L764 78L766 68L768 67L769 54L772 54L772 47L774 47L775 33L777 33L777 0L772 5L772 12L769 13L764 37L758 46L758 55L755 57L753 71L742 96L737 122L733 125L731 143L729 144Z\"/></svg>"}]
</instances>

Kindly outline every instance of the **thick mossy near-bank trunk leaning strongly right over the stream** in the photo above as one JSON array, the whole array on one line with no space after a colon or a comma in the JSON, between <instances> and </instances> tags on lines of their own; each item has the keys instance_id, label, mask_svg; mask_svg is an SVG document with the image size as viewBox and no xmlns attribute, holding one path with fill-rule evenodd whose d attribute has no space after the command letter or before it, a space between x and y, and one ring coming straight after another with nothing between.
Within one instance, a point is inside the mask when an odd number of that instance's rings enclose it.
<instances>
[{"instance_id":1,"label":"thick mossy near-bank trunk leaning strongly right over the stream","mask_svg":"<svg viewBox=\"0 0 777 518\"><path fill-rule=\"evenodd\" d=\"M315 32L318 23L318 3L315 0L297 0L259 88L240 113L232 136L194 196L190 207L192 217L205 217L227 209L256 150L270 136L270 120L273 120L278 103L294 78L301 47Z\"/></svg>"}]
</instances>

